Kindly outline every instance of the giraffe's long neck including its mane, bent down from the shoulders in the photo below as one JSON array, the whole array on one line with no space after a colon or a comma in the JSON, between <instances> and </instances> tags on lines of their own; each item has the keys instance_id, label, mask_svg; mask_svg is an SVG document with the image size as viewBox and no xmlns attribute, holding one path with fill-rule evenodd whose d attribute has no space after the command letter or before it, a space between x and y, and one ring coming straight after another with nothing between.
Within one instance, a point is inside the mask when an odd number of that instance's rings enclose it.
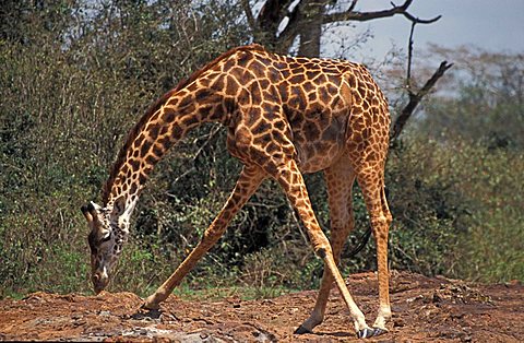
<instances>
[{"instance_id":1,"label":"giraffe's long neck including its mane, bent down from the shoulders","mask_svg":"<svg viewBox=\"0 0 524 343\"><path fill-rule=\"evenodd\" d=\"M170 146L200 123L219 121L227 126L231 121L240 84L229 71L237 62L245 64L249 51L264 49L253 45L224 52L160 97L135 125L104 188L105 209L114 213L112 222L118 226L129 226L140 191ZM243 58L235 58L236 52Z\"/></svg>"}]
</instances>

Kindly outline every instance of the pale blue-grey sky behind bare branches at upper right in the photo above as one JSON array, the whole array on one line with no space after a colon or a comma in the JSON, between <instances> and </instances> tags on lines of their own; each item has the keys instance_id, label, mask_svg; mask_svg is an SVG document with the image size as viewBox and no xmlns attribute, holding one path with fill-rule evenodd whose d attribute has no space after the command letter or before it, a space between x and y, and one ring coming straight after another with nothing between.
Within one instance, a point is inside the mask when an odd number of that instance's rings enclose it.
<instances>
[{"instance_id":1,"label":"pale blue-grey sky behind bare branches at upper right","mask_svg":"<svg viewBox=\"0 0 524 343\"><path fill-rule=\"evenodd\" d=\"M393 2L401 4L404 0ZM388 8L390 0L360 0L357 5L360 11ZM416 26L416 50L432 43L448 48L473 45L491 52L524 54L524 0L414 0L409 13L420 19L442 15L433 24ZM358 23L346 29L354 33L366 28L374 37L360 54L381 58L393 45L407 49L410 22L404 16Z\"/></svg>"}]
</instances>

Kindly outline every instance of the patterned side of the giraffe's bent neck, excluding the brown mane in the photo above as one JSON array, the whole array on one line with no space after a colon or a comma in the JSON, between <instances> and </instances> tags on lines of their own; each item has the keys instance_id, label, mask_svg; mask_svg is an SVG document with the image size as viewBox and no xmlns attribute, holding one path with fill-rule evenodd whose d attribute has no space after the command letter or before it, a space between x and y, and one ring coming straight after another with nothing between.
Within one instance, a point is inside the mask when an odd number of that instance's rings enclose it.
<instances>
[{"instance_id":1,"label":"patterned side of the giraffe's bent neck, excluding the brown mane","mask_svg":"<svg viewBox=\"0 0 524 343\"><path fill-rule=\"evenodd\" d=\"M121 149L104 189L105 208L127 233L134 206L148 175L170 146L203 122L224 121L219 96L191 90L165 94L136 123Z\"/></svg>"}]
</instances>

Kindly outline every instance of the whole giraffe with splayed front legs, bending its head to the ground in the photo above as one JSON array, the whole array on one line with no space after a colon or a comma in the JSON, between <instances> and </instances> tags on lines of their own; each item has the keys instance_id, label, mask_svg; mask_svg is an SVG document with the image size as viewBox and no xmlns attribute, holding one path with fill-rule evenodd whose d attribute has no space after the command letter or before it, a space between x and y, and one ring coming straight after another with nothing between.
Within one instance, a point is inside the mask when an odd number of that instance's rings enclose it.
<instances>
[{"instance_id":1,"label":"whole giraffe with splayed front legs, bending its head to the ground","mask_svg":"<svg viewBox=\"0 0 524 343\"><path fill-rule=\"evenodd\" d=\"M203 122L227 129L228 152L242 164L237 184L201 241L143 307L158 309L182 277L219 239L234 215L273 178L303 223L324 274L314 308L297 334L323 319L336 284L358 338L385 333L391 320L388 232L392 216L384 194L389 146L388 102L368 70L358 63L291 58L260 45L233 48L164 94L139 120L120 150L103 188L103 205L82 208L91 233L92 282L96 293L129 235L131 213L150 173L169 147ZM311 208L303 173L323 170L329 192L331 241ZM358 182L377 243L379 310L372 327L346 287L337 264L354 228L352 187Z\"/></svg>"}]
</instances>

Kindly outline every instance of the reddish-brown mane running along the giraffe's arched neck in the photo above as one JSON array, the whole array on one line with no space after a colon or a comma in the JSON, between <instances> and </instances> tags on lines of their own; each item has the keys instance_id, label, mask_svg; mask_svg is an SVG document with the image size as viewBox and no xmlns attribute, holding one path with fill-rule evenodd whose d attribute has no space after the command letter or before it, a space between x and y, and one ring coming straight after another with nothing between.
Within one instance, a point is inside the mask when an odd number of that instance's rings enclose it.
<instances>
[{"instance_id":1,"label":"reddish-brown mane running along the giraffe's arched neck","mask_svg":"<svg viewBox=\"0 0 524 343\"><path fill-rule=\"evenodd\" d=\"M165 93L163 96L160 96L153 105L151 105L145 114L140 118L140 120L134 125L134 127L131 129L131 131L128 134L128 138L126 140L126 143L120 149L117 161L112 165L110 173L109 173L109 178L107 179L106 184L104 185L103 188L103 203L104 205L107 204L109 201L109 196L111 192L111 187L112 184L115 182L115 179L117 178L118 172L120 170L121 166L126 162L126 158L128 156L128 150L131 147L131 144L133 141L136 139L136 137L140 134L140 132L143 130L150 118L158 110L160 107L178 91L182 90L183 87L188 86L190 83L199 79L205 71L210 70L214 66L216 66L219 61L230 57L231 55L236 54L237 51L240 50L257 50L257 51L265 51L264 47L258 44L251 44L251 45L246 45L246 46L239 46L233 49L229 49L225 52L223 52L221 56L205 64L203 68L194 71L189 78L180 81L177 86L167 93Z\"/></svg>"}]
</instances>

